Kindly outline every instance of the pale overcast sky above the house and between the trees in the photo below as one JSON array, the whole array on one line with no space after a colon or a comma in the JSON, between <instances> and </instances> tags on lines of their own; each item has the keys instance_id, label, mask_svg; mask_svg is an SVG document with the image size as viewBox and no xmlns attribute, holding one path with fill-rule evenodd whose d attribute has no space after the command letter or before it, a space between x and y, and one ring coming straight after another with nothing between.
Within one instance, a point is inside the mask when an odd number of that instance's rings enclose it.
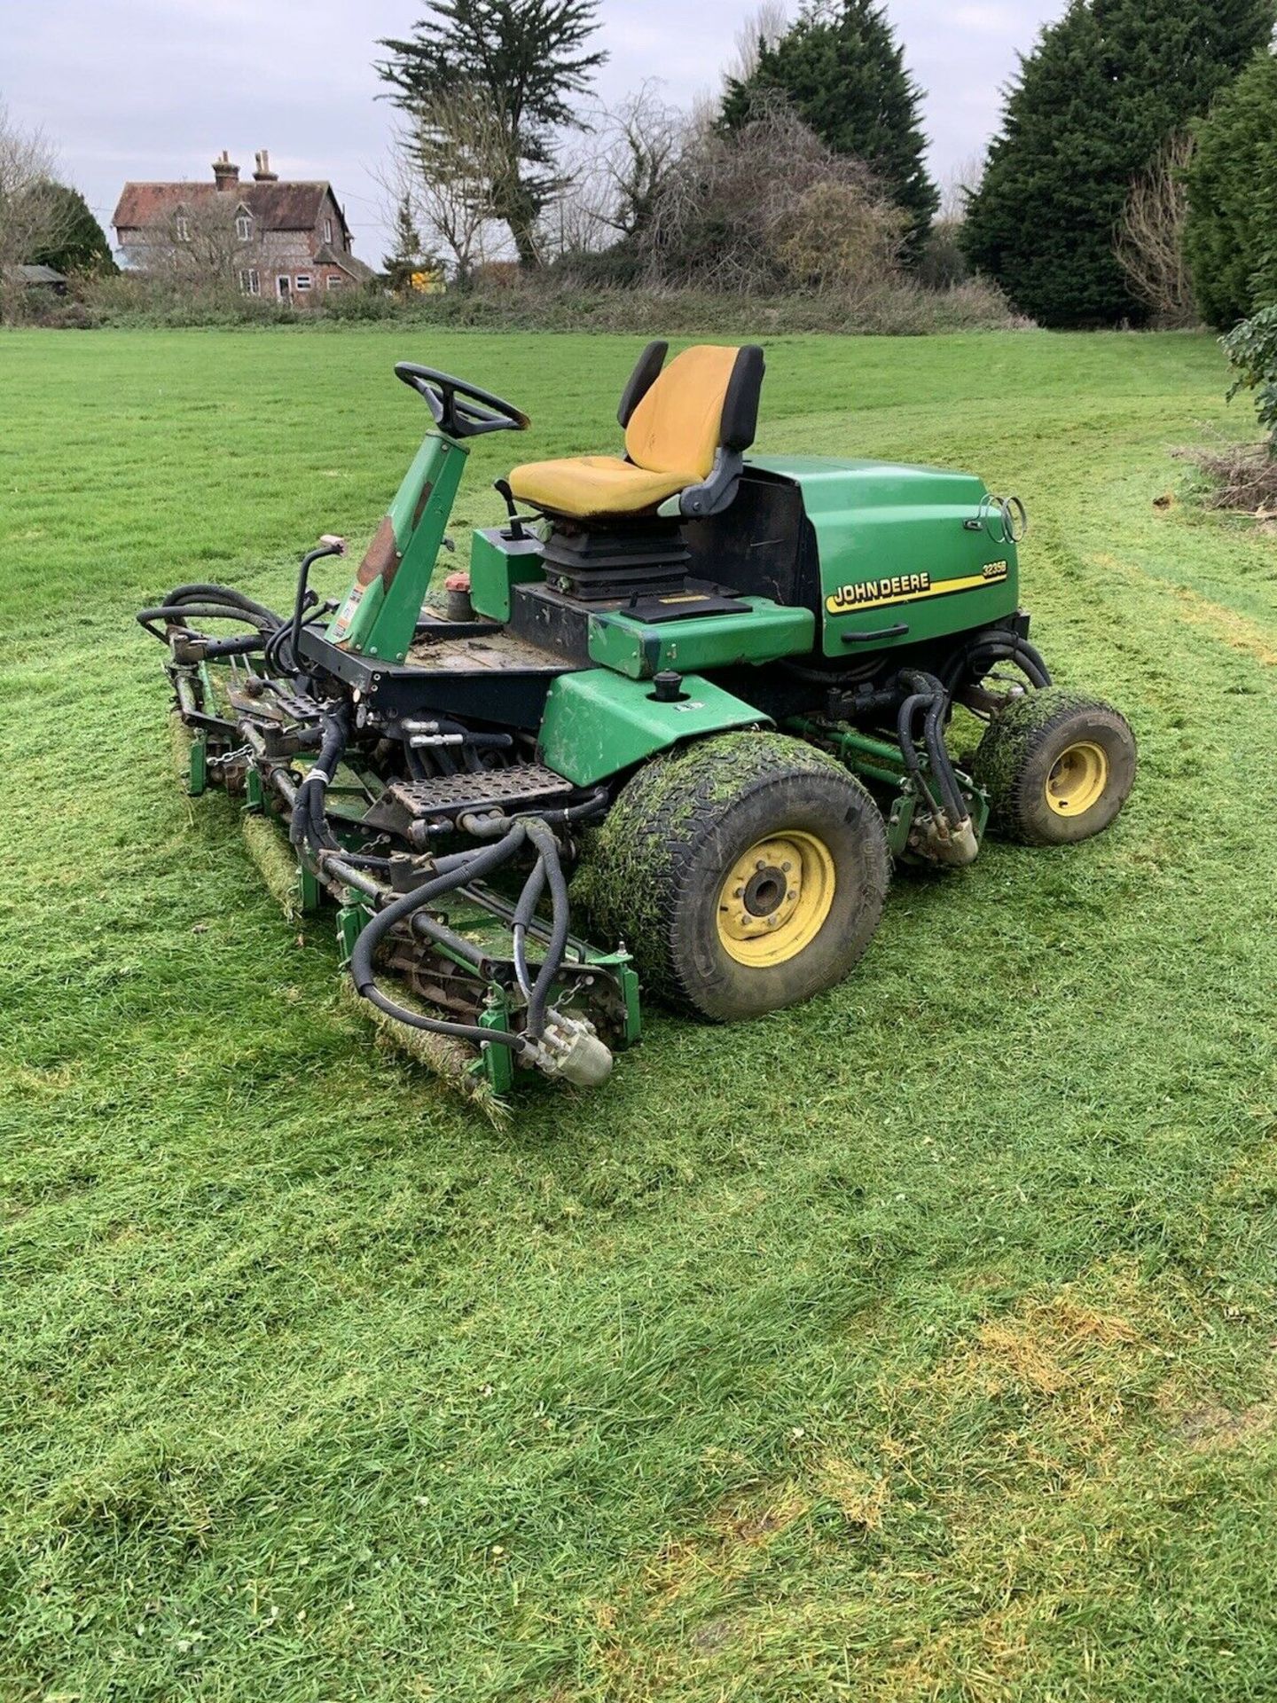
<instances>
[{"instance_id":1,"label":"pale overcast sky above the house and between the trees","mask_svg":"<svg viewBox=\"0 0 1277 1703\"><path fill-rule=\"evenodd\" d=\"M998 90L1066 0L887 0L925 94L931 169L981 153ZM603 104L645 78L690 104L715 89L756 0L601 0ZM269 148L283 177L327 177L354 249L387 249L378 162L392 114L371 61L419 0L0 0L0 100L41 126L63 177L102 225L128 177L206 177L230 150L243 174ZM797 12L797 0L790 14Z\"/></svg>"}]
</instances>

